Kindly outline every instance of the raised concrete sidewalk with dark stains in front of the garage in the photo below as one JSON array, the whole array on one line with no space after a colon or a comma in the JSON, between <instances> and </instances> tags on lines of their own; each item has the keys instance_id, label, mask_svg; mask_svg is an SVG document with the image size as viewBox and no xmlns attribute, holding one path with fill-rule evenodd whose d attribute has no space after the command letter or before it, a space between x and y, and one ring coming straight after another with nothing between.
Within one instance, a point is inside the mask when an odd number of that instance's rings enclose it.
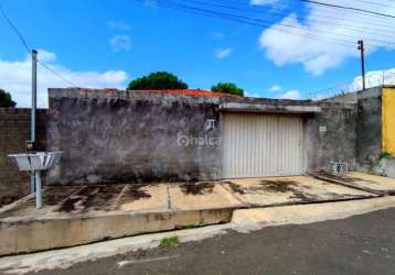
<instances>
[{"instance_id":1,"label":"raised concrete sidewalk with dark stains in front of the garage","mask_svg":"<svg viewBox=\"0 0 395 275\"><path fill-rule=\"evenodd\" d=\"M395 179L376 184L392 189ZM378 196L309 176L194 184L52 186L44 190L44 207L40 210L34 208L32 196L0 209L0 255L224 223L232 219L235 209Z\"/></svg>"}]
</instances>

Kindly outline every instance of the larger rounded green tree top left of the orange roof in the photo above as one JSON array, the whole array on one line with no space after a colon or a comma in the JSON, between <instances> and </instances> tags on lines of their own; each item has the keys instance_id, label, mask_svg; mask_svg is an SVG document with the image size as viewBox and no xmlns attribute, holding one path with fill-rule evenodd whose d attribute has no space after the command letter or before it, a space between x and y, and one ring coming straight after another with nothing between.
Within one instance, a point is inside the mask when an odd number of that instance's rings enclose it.
<instances>
[{"instance_id":1,"label":"larger rounded green tree top left of the orange roof","mask_svg":"<svg viewBox=\"0 0 395 275\"><path fill-rule=\"evenodd\" d=\"M130 81L130 90L167 90L188 89L188 85L173 74L167 72L151 73L148 76L136 78Z\"/></svg>"}]
</instances>

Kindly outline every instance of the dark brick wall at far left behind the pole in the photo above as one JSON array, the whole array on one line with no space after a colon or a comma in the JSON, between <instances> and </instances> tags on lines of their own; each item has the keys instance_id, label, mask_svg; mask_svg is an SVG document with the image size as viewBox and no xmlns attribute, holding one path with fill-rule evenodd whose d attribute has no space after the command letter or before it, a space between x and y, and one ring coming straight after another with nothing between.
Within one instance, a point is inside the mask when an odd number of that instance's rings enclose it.
<instances>
[{"instance_id":1,"label":"dark brick wall at far left behind the pole","mask_svg":"<svg viewBox=\"0 0 395 275\"><path fill-rule=\"evenodd\" d=\"M38 110L39 150L46 144L46 110ZM23 153L30 140L30 109L0 108L0 207L29 194L29 175L8 154Z\"/></svg>"}]
</instances>

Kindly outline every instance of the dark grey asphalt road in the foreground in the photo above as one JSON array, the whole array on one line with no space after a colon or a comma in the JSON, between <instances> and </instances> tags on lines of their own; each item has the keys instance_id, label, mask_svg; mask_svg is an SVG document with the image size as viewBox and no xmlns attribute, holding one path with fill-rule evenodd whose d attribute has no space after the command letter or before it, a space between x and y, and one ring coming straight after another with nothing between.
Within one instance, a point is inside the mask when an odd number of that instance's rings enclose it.
<instances>
[{"instance_id":1,"label":"dark grey asphalt road in the foreground","mask_svg":"<svg viewBox=\"0 0 395 275\"><path fill-rule=\"evenodd\" d=\"M395 209L248 234L231 232L38 274L395 274Z\"/></svg>"}]
</instances>

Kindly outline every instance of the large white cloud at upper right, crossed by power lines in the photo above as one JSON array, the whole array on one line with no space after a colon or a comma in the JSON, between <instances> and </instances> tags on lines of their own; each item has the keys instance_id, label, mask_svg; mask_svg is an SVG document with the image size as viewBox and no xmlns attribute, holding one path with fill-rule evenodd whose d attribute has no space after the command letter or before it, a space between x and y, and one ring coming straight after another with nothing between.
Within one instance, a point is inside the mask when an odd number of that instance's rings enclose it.
<instances>
[{"instance_id":1,"label":"large white cloud at upper right, crossed by power lines","mask_svg":"<svg viewBox=\"0 0 395 275\"><path fill-rule=\"evenodd\" d=\"M331 3L342 4L343 1L331 0ZM353 7L351 2L348 6ZM389 7L372 7L369 3L357 2L354 3L354 7L369 10L374 8L374 11L395 13L395 3ZM265 51L266 57L276 65L302 64L305 69L312 75L321 75L328 69L340 66L349 57L357 57L356 41L359 38L364 38L367 45L366 54L371 54L378 47L395 48L394 44L375 41L394 41L395 35L392 30L383 30L385 26L374 24L361 13L350 13L350 11L343 10L335 10L334 13L334 10L330 10L328 7L314 4L307 4L307 8L308 13L302 20L291 13L279 22L282 25L274 24L261 33L259 45ZM325 14L331 19L323 18ZM286 30L288 33L276 30ZM301 34L301 36L292 35L289 32ZM334 44L339 38L355 44L350 44L350 47ZM337 43L344 44L346 42L338 41Z\"/></svg>"}]
</instances>

